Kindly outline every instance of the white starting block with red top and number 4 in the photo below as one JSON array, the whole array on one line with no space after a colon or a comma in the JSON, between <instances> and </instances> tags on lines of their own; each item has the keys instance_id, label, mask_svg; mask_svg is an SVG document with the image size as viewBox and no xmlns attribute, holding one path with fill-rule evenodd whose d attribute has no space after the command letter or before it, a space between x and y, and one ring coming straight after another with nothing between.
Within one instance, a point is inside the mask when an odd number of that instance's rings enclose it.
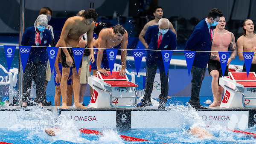
<instances>
[{"instance_id":1,"label":"white starting block with red top and number 4","mask_svg":"<svg viewBox=\"0 0 256 144\"><path fill-rule=\"evenodd\" d=\"M97 71L97 75L88 78L88 84L93 88L93 95L88 107L113 108L135 107L137 105L137 84L129 81L127 76L119 76L113 71L112 75L104 76Z\"/></svg>"}]
</instances>

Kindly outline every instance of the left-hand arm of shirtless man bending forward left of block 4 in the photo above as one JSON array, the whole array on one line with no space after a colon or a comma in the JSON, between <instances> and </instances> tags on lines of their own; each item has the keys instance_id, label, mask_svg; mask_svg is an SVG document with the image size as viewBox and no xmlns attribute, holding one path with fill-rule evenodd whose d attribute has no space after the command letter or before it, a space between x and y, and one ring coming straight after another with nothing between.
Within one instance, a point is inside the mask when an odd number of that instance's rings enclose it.
<instances>
[{"instance_id":1,"label":"left-hand arm of shirtless man bending forward left of block 4","mask_svg":"<svg viewBox=\"0 0 256 144\"><path fill-rule=\"evenodd\" d=\"M75 23L74 20L72 20L71 18L68 18L67 21L65 22L63 28L62 28L62 31L61 31L61 36L60 36L60 39L57 43L57 45L59 47L67 47L66 43L65 43L65 39L67 38L67 35L68 33L70 32L70 29L72 29L72 26L73 24ZM56 46L57 46L56 45ZM66 48L63 48L62 49L63 52L65 53L66 55L66 62L67 62L67 65L68 66L73 66L74 62L70 56L70 54L68 53L67 49Z\"/></svg>"}]
</instances>

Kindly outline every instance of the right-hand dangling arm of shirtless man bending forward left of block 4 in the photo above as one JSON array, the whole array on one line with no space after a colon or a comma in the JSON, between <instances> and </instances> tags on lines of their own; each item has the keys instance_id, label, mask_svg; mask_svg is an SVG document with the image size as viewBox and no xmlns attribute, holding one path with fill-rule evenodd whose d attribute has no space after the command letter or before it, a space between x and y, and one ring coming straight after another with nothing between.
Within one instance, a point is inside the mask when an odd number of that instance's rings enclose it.
<instances>
[{"instance_id":1,"label":"right-hand dangling arm of shirtless man bending forward left of block 4","mask_svg":"<svg viewBox=\"0 0 256 144\"><path fill-rule=\"evenodd\" d=\"M89 60L91 61L91 63L93 63L95 61L94 59L94 54L93 54L93 29L94 29L95 23L93 21L93 23L90 24L90 29L87 32L87 43L88 43L88 48L90 51L90 56L89 56Z\"/></svg>"}]
</instances>

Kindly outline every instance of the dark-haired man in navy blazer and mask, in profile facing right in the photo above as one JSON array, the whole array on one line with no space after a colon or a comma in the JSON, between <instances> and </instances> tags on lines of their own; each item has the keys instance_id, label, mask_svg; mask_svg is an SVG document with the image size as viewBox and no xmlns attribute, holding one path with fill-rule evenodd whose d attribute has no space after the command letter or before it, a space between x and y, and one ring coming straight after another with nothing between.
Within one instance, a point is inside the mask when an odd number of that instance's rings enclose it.
<instances>
[{"instance_id":1,"label":"dark-haired man in navy blazer and mask, in profile facing right","mask_svg":"<svg viewBox=\"0 0 256 144\"><path fill-rule=\"evenodd\" d=\"M201 20L190 35L186 42L185 50L194 51L211 51L213 29L212 26L217 26L220 17L222 17L222 12L219 9L212 9L208 17ZM189 104L196 109L205 109L200 104L199 92L201 88L202 81L204 79L206 66L210 58L210 52L196 52L195 59L191 69L192 76L192 88L191 88L191 98Z\"/></svg>"}]
</instances>

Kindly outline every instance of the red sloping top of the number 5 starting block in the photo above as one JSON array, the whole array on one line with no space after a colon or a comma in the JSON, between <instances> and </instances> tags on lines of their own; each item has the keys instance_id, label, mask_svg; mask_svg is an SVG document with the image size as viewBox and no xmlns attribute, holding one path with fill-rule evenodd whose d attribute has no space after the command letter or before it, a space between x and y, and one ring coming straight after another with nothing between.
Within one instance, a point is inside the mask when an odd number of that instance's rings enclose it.
<instances>
[{"instance_id":1,"label":"red sloping top of the number 5 starting block","mask_svg":"<svg viewBox=\"0 0 256 144\"><path fill-rule=\"evenodd\" d=\"M249 72L248 77L246 72L229 72L229 78L244 87L256 87L256 75L254 72Z\"/></svg>"}]
</instances>

